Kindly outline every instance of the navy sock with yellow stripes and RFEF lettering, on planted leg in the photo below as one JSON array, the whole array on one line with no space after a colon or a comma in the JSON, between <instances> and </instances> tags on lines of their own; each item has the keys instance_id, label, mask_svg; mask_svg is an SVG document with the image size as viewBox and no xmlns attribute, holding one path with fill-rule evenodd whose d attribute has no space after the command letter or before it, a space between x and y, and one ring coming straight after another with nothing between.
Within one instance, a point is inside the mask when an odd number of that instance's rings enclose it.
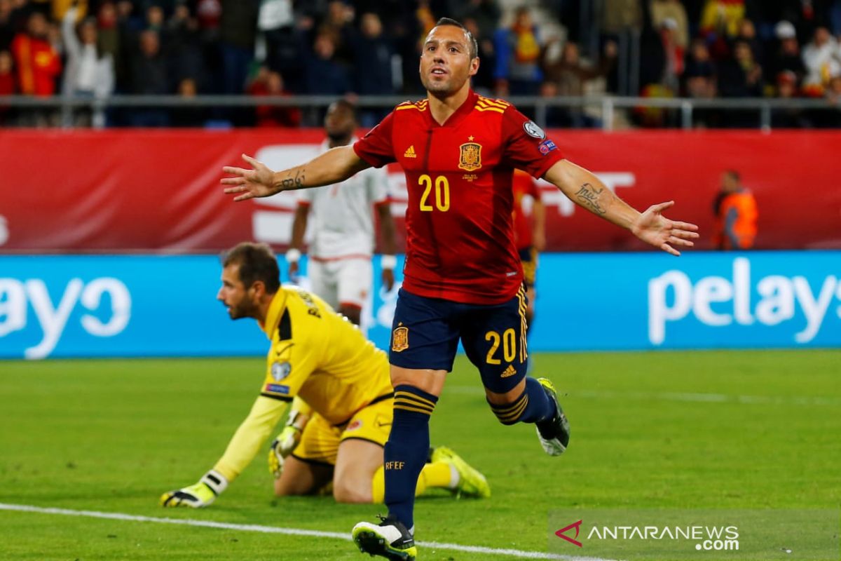
<instances>
[{"instance_id":1,"label":"navy sock with yellow stripes and RFEF lettering, on planted leg","mask_svg":"<svg viewBox=\"0 0 841 561\"><path fill-rule=\"evenodd\" d=\"M407 528L415 525L415 490L429 454L429 418L438 398L408 384L394 388L394 421L385 443L385 504Z\"/></svg>"}]
</instances>

